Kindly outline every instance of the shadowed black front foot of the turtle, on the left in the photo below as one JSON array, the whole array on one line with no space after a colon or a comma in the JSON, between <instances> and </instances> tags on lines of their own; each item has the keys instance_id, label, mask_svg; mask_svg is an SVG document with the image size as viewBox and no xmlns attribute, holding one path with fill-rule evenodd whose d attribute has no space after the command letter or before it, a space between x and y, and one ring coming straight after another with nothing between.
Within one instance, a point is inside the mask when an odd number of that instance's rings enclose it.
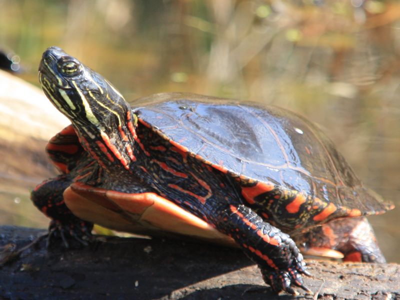
<instances>
[{"instance_id":1,"label":"shadowed black front foot of the turtle, on the left","mask_svg":"<svg viewBox=\"0 0 400 300\"><path fill-rule=\"evenodd\" d=\"M46 247L50 248L61 241L66 249L87 246L93 240L93 224L77 219L68 223L52 220L48 227Z\"/></svg>"}]
</instances>

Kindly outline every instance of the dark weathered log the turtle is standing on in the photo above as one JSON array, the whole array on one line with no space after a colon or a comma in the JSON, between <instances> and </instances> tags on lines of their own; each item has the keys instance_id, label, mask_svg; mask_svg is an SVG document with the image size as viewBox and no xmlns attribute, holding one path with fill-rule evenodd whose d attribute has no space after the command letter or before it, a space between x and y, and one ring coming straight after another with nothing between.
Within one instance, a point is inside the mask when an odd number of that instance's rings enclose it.
<instances>
[{"instance_id":1,"label":"dark weathered log the turtle is standing on","mask_svg":"<svg viewBox=\"0 0 400 300\"><path fill-rule=\"evenodd\" d=\"M0 226L0 245L45 230ZM106 241L105 241L106 239ZM4 249L4 248L3 248ZM400 265L307 260L320 299L400 297ZM300 291L301 293L301 291ZM312 298L312 296L307 296ZM289 299L275 296L239 249L176 239L106 237L77 250L45 240L0 269L1 299Z\"/></svg>"}]
</instances>

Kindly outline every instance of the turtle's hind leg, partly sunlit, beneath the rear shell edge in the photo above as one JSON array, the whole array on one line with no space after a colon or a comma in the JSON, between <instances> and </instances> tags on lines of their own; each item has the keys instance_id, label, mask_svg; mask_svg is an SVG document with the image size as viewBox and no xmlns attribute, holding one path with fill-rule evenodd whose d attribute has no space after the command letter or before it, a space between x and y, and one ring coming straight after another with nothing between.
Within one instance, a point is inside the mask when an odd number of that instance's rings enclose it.
<instances>
[{"instance_id":1,"label":"turtle's hind leg, partly sunlit, beneath the rear shell edge","mask_svg":"<svg viewBox=\"0 0 400 300\"><path fill-rule=\"evenodd\" d=\"M295 241L304 245L305 254L330 256L324 252L333 249L343 253L346 261L386 262L366 217L329 221L295 237Z\"/></svg>"}]
</instances>

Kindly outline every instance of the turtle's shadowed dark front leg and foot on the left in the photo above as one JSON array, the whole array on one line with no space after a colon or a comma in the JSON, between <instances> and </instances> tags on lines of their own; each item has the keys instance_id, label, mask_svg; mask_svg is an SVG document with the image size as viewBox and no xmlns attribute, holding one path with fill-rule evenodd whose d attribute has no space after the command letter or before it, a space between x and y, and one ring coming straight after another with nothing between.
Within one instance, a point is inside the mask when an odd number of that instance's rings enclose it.
<instances>
[{"instance_id":1,"label":"turtle's shadowed dark front leg and foot on the left","mask_svg":"<svg viewBox=\"0 0 400 300\"><path fill-rule=\"evenodd\" d=\"M70 183L70 177L62 174L43 181L30 194L34 205L51 218L47 245L58 239L68 248L71 242L73 246L87 245L87 241L91 239L93 224L73 215L65 205L63 192Z\"/></svg>"}]
</instances>

